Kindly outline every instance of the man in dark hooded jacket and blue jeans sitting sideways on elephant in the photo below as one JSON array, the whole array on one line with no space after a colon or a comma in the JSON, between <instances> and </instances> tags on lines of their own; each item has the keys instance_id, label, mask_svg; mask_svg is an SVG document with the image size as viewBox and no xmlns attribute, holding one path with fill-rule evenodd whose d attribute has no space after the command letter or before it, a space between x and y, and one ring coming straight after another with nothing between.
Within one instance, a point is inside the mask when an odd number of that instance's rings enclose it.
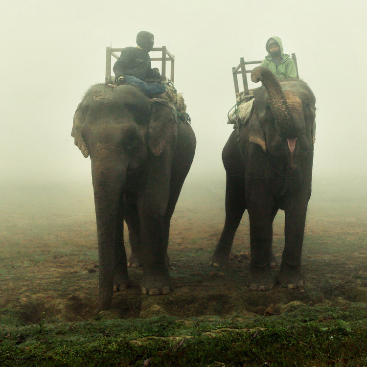
<instances>
[{"instance_id":1,"label":"man in dark hooded jacket and blue jeans sitting sideways on elephant","mask_svg":"<svg viewBox=\"0 0 367 367\"><path fill-rule=\"evenodd\" d=\"M131 84L145 94L161 94L164 84L147 84L147 79L160 77L159 70L150 63L149 51L154 45L154 35L141 31L137 35L138 47L125 47L114 65L117 85Z\"/></svg>"}]
</instances>

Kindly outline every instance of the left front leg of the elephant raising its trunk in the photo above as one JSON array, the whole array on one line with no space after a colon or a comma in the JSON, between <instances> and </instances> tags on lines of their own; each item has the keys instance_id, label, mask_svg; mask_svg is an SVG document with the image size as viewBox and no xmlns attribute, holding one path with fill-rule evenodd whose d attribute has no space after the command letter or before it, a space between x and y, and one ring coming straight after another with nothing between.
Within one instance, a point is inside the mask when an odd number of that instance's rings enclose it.
<instances>
[{"instance_id":1,"label":"left front leg of the elephant raising its trunk","mask_svg":"<svg viewBox=\"0 0 367 367\"><path fill-rule=\"evenodd\" d=\"M260 197L260 195L259 195ZM272 289L275 278L271 274L273 221L277 208L273 201L262 201L248 208L250 216L251 261L248 285L251 290Z\"/></svg>"}]
</instances>

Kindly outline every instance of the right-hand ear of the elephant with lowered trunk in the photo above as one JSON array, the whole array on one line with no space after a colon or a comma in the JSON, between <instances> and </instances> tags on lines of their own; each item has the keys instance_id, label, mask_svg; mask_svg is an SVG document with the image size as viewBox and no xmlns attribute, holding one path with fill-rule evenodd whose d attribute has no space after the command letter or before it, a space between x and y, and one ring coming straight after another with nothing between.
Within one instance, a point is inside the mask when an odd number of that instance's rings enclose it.
<instances>
[{"instance_id":1,"label":"right-hand ear of the elephant with lowered trunk","mask_svg":"<svg viewBox=\"0 0 367 367\"><path fill-rule=\"evenodd\" d=\"M159 156L176 135L177 126L171 108L166 103L154 102L149 121L149 149L155 156Z\"/></svg>"}]
</instances>

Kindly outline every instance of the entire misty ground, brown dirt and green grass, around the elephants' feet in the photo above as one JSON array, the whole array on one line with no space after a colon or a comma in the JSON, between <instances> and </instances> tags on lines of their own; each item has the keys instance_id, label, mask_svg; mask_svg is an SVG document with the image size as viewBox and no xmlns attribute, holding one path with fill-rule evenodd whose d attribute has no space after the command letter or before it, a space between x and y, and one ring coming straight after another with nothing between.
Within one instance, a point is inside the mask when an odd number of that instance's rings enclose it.
<instances>
[{"instance_id":1,"label":"entire misty ground, brown dirt and green grass, around the elephants' feet","mask_svg":"<svg viewBox=\"0 0 367 367\"><path fill-rule=\"evenodd\" d=\"M141 295L141 269L133 268L133 286L115 293L112 310L97 317L92 185L2 185L0 361L143 366L151 358L146 366L367 366L364 183L314 179L304 288L251 292L245 282L247 214L230 266L211 268L208 259L224 222L225 183L190 178L171 225L173 293ZM278 261L283 222L279 212Z\"/></svg>"}]
</instances>

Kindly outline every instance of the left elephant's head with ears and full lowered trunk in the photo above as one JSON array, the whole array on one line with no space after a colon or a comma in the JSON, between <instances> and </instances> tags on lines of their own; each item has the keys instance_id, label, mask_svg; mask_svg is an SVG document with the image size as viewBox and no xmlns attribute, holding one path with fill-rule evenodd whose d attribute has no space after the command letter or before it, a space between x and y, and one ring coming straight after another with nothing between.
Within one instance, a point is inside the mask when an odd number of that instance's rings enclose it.
<instances>
[{"instance_id":1,"label":"left elephant's head with ears and full lowered trunk","mask_svg":"<svg viewBox=\"0 0 367 367\"><path fill-rule=\"evenodd\" d=\"M71 136L84 157L91 157L98 231L99 307L108 309L114 281L117 228L123 218L123 193L139 184L149 156L175 143L171 109L151 103L137 88L92 86L79 104ZM122 216L121 216L122 213Z\"/></svg>"}]
</instances>

